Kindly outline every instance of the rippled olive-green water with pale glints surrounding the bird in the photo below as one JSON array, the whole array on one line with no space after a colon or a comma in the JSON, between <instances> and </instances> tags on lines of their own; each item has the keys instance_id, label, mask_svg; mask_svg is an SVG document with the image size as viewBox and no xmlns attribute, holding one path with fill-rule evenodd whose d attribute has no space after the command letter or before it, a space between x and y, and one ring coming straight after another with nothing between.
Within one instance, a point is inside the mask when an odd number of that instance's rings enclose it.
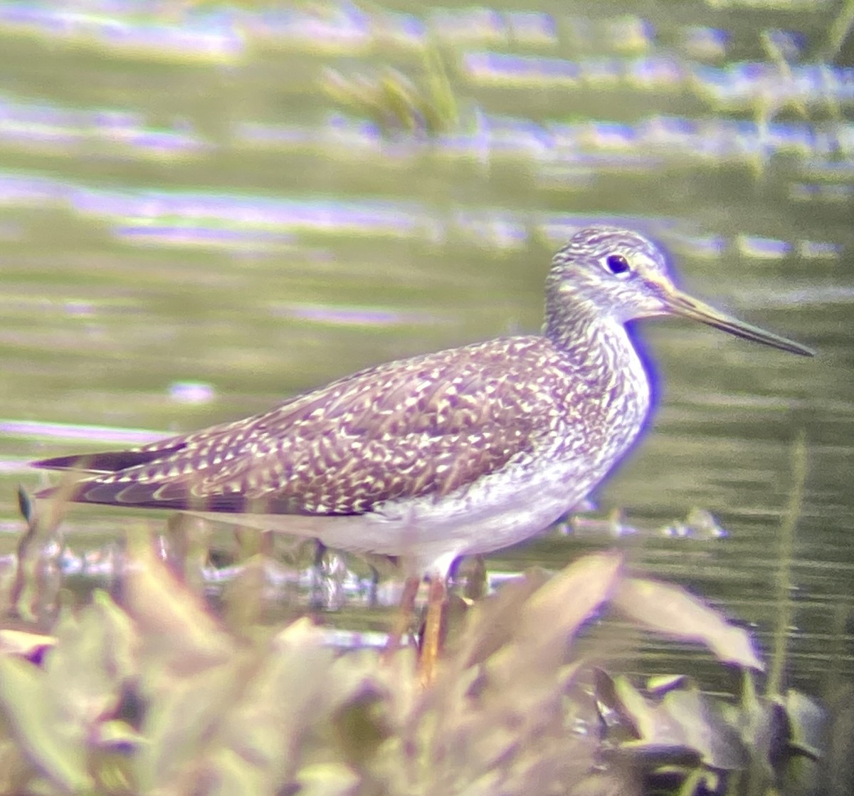
<instances>
[{"instance_id":1,"label":"rippled olive-green water with pale glints surrounding the bird","mask_svg":"<svg viewBox=\"0 0 854 796\"><path fill-rule=\"evenodd\" d=\"M28 459L533 331L553 250L618 220L661 237L693 293L820 355L641 325L659 374L650 433L598 512L490 571L617 545L768 641L803 429L793 670L816 687L854 674L854 69L826 3L712 3L690 21L665 3L589 17L169 6L0 4L4 553L20 532L15 484L40 477ZM436 135L412 108L360 114L328 90L334 73L363 99L437 97L433 50L459 111ZM64 527L67 577L107 577L126 520L78 509ZM296 582L307 602L371 599L358 561L289 567L270 582ZM219 588L229 572L204 577ZM649 654L681 669L670 647Z\"/></svg>"}]
</instances>

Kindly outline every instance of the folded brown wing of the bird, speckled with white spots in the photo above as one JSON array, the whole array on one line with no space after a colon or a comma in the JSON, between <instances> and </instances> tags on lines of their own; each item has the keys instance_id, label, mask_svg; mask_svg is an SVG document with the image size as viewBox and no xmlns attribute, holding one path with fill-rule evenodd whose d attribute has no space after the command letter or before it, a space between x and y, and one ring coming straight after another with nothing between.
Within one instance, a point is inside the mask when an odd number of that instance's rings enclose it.
<instances>
[{"instance_id":1,"label":"folded brown wing of the bird, speckled with white spots","mask_svg":"<svg viewBox=\"0 0 854 796\"><path fill-rule=\"evenodd\" d=\"M546 338L516 337L378 366L254 418L92 456L85 465L100 474L75 500L354 514L447 495L530 453L562 411L544 385L565 380L563 364Z\"/></svg>"}]
</instances>

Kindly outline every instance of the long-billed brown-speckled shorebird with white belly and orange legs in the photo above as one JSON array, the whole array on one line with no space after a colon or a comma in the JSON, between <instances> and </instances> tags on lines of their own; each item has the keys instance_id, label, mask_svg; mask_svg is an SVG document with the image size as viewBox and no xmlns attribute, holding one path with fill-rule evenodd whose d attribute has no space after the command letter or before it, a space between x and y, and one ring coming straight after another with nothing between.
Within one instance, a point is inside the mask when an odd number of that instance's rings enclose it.
<instances>
[{"instance_id":1,"label":"long-billed brown-speckled shorebird with white belly and orange legs","mask_svg":"<svg viewBox=\"0 0 854 796\"><path fill-rule=\"evenodd\" d=\"M625 324L658 315L813 354L678 290L647 237L597 225L554 255L539 335L389 362L254 417L34 465L79 471L74 501L400 557L407 600L430 577L429 648L453 560L546 530L640 435L650 386Z\"/></svg>"}]
</instances>

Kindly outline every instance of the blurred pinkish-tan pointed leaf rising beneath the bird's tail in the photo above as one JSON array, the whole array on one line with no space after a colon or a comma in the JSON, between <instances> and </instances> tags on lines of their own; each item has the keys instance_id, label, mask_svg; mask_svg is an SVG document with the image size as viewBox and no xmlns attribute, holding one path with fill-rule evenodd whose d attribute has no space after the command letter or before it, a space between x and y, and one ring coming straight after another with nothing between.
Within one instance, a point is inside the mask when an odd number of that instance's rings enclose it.
<instances>
[{"instance_id":1,"label":"blurred pinkish-tan pointed leaf rising beneath the bird's tail","mask_svg":"<svg viewBox=\"0 0 854 796\"><path fill-rule=\"evenodd\" d=\"M134 541L123 606L141 636L143 654L178 676L227 661L231 638L196 594L157 559L147 539Z\"/></svg>"}]
</instances>

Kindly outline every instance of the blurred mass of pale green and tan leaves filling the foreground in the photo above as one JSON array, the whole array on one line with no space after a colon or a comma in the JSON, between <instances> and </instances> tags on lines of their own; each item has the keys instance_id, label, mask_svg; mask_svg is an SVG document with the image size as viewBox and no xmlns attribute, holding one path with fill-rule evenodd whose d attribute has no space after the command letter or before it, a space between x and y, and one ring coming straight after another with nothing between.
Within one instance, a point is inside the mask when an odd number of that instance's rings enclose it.
<instances>
[{"instance_id":1,"label":"blurred mass of pale green and tan leaves filling the foreground","mask_svg":"<svg viewBox=\"0 0 854 796\"><path fill-rule=\"evenodd\" d=\"M22 508L32 549L43 537ZM230 629L143 529L128 534L120 588L82 606L51 608L28 559L31 588L0 629L2 794L764 794L816 781L822 711L793 691L758 696L746 630L632 577L619 553L530 571L478 602L427 688L411 648L383 661L336 651L307 618L262 623L251 577L228 590ZM741 694L621 673L631 644L606 612L705 644L740 668Z\"/></svg>"}]
</instances>

